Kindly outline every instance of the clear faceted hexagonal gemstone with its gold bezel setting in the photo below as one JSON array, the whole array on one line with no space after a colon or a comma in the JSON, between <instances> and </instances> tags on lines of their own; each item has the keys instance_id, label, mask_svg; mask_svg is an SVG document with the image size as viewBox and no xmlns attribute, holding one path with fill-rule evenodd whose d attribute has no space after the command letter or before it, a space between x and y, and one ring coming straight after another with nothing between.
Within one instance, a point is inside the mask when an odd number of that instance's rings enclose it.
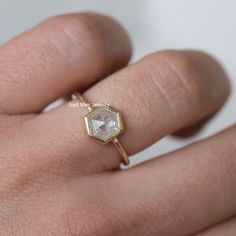
<instances>
[{"instance_id":1,"label":"clear faceted hexagonal gemstone with its gold bezel setting","mask_svg":"<svg viewBox=\"0 0 236 236\"><path fill-rule=\"evenodd\" d=\"M123 130L121 115L115 109L97 108L85 119L87 120L89 135L103 142L109 141Z\"/></svg>"}]
</instances>

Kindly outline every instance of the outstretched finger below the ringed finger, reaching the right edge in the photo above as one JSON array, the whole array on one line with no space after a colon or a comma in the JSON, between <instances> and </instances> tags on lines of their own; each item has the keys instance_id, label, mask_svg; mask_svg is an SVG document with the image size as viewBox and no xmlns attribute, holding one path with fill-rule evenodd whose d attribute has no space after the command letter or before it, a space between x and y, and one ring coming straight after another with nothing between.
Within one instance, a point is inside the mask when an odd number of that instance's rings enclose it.
<instances>
[{"instance_id":1,"label":"outstretched finger below the ringed finger, reaching the right edge","mask_svg":"<svg viewBox=\"0 0 236 236\"><path fill-rule=\"evenodd\" d=\"M121 216L119 225L131 227L135 222L137 227L125 229L130 235L149 232L148 235L183 236L233 217L235 137L236 126L130 170L116 172L111 185L117 187L109 189L112 202L108 205L115 202L114 212ZM127 212L128 218L124 217Z\"/></svg>"}]
</instances>

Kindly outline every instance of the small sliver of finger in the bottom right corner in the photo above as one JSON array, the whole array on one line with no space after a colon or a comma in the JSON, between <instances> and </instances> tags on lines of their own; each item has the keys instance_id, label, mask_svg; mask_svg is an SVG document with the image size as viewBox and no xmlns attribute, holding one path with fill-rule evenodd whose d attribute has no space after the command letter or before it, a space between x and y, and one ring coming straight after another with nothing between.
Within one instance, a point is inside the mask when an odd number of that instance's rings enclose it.
<instances>
[{"instance_id":1,"label":"small sliver of finger in the bottom right corner","mask_svg":"<svg viewBox=\"0 0 236 236\"><path fill-rule=\"evenodd\" d=\"M194 236L235 236L236 235L236 217L223 223L213 226L203 232L194 234Z\"/></svg>"}]
</instances>

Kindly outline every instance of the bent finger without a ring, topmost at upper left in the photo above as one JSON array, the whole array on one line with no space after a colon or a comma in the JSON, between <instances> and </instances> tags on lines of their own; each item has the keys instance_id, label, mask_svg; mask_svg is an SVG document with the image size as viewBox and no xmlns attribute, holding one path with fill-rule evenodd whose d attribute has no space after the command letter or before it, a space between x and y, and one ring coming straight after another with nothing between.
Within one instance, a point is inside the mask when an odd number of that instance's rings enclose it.
<instances>
[{"instance_id":1,"label":"bent finger without a ring, topmost at upper left","mask_svg":"<svg viewBox=\"0 0 236 236\"><path fill-rule=\"evenodd\" d=\"M53 17L0 49L0 112L41 111L126 65L131 48L109 17Z\"/></svg>"}]
</instances>

